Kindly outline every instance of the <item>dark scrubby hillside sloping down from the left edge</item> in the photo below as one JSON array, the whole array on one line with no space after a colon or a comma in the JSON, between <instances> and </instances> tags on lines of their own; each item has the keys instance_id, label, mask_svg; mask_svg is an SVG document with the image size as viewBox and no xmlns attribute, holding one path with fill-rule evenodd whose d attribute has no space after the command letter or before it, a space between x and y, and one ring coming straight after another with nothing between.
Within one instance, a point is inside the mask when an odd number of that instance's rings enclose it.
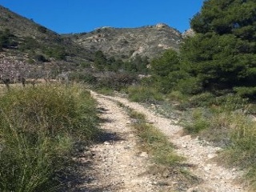
<instances>
[{"instance_id":1,"label":"dark scrubby hillside sloping down from the left edge","mask_svg":"<svg viewBox=\"0 0 256 192\"><path fill-rule=\"evenodd\" d=\"M70 38L0 6L0 59L54 66L62 72L92 62L93 55Z\"/></svg>"}]
</instances>

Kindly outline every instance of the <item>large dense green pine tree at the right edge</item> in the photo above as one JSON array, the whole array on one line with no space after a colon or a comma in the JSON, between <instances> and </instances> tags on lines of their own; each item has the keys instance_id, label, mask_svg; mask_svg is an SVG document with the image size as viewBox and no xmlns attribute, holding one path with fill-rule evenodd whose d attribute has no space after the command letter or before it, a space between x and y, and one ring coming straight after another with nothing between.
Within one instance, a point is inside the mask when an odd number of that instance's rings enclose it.
<instances>
[{"instance_id":1,"label":"large dense green pine tree at the right edge","mask_svg":"<svg viewBox=\"0 0 256 192\"><path fill-rule=\"evenodd\" d=\"M207 90L256 86L255 0L207 0L190 25L196 35L182 46L183 70Z\"/></svg>"}]
</instances>

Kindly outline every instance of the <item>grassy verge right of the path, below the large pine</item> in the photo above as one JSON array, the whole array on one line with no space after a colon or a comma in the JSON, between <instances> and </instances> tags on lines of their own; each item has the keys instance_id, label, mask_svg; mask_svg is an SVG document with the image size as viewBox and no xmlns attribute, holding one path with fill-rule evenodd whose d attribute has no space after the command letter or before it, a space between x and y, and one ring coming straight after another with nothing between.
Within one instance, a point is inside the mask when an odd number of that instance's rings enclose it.
<instances>
[{"instance_id":1,"label":"grassy verge right of the path, below the large pine","mask_svg":"<svg viewBox=\"0 0 256 192\"><path fill-rule=\"evenodd\" d=\"M182 122L186 133L222 146L224 150L216 160L245 170L245 181L255 190L256 122L250 115L254 104L236 95L226 95L206 99L206 105L202 106L199 105L202 96L196 97L190 98L193 102L189 104L193 108L187 108L186 120Z\"/></svg>"}]
</instances>

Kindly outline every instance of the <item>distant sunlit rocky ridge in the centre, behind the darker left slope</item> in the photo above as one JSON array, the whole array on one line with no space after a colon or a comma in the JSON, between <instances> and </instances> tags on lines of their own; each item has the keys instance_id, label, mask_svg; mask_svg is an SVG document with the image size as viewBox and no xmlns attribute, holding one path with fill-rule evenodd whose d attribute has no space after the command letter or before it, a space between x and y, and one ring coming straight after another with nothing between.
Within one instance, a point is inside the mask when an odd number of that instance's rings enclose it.
<instances>
[{"instance_id":1,"label":"distant sunlit rocky ridge in the centre, behind the darker left slope","mask_svg":"<svg viewBox=\"0 0 256 192\"><path fill-rule=\"evenodd\" d=\"M90 50L102 50L106 56L133 58L136 54L153 58L164 50L178 50L182 34L159 23L138 28L102 27L90 33L66 34L74 42Z\"/></svg>"}]
</instances>

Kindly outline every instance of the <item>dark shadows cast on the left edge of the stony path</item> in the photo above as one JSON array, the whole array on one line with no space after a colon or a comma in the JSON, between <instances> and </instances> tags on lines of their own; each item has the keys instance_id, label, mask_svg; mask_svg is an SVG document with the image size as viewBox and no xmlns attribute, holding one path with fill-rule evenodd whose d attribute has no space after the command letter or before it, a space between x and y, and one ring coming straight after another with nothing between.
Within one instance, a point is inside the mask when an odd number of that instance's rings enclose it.
<instances>
[{"instance_id":1,"label":"dark shadows cast on the left edge of the stony path","mask_svg":"<svg viewBox=\"0 0 256 192\"><path fill-rule=\"evenodd\" d=\"M98 113L107 113L108 110L98 108ZM100 118L100 122L113 122L110 119ZM94 144L113 143L123 141L124 139L114 132L101 130ZM97 180L93 172L94 153L90 151L90 146L81 146L78 144L77 153L74 155L73 161L65 170L65 174L59 176L59 181L63 183L58 192L102 192L111 191L113 186L94 186L90 183Z\"/></svg>"}]
</instances>

